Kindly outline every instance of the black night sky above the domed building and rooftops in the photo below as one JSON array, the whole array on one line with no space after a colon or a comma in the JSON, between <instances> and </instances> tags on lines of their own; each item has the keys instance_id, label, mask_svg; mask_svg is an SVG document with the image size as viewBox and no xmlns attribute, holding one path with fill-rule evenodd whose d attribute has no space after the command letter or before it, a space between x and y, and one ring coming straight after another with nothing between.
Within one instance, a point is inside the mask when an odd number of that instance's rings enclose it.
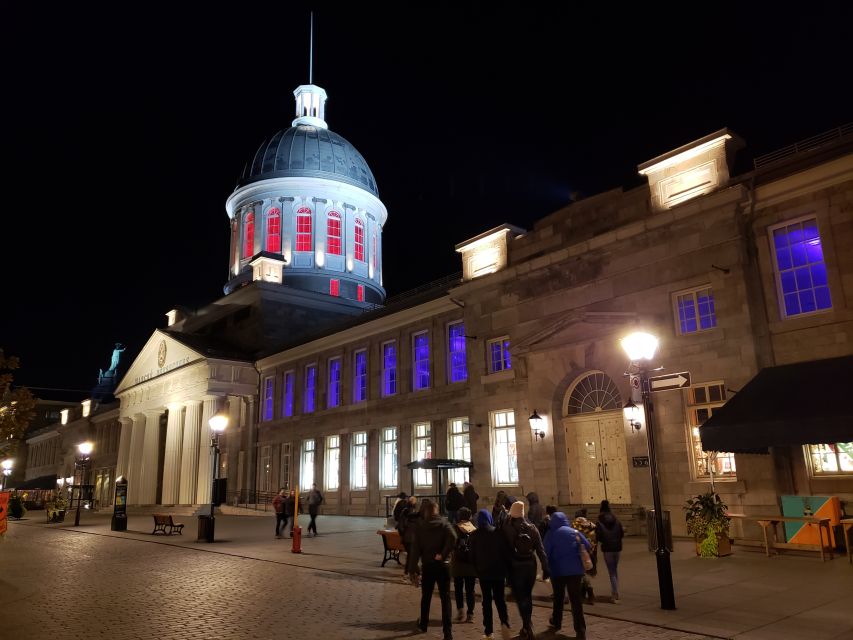
<instances>
[{"instance_id":1,"label":"black night sky above the domed building and rooftops","mask_svg":"<svg viewBox=\"0 0 853 640\"><path fill-rule=\"evenodd\" d=\"M127 365L221 295L225 200L290 126L311 7L24 4L0 16L0 348L19 383L90 389L114 342ZM850 9L751 4L315 3L326 120L388 208L388 294L719 128L760 155L853 119Z\"/></svg>"}]
</instances>

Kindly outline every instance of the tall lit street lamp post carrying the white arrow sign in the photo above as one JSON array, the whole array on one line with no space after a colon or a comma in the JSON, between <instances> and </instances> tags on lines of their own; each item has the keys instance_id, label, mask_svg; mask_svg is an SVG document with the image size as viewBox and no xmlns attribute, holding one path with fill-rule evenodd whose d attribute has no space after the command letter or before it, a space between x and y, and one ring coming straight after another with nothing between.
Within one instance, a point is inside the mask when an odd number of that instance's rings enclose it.
<instances>
[{"instance_id":1,"label":"tall lit street lamp post carrying the white arrow sign","mask_svg":"<svg viewBox=\"0 0 853 640\"><path fill-rule=\"evenodd\" d=\"M663 511L660 501L660 482L658 479L657 456L655 452L655 422L654 405L649 388L649 362L654 358L658 339L650 333L632 333L622 339L622 348L631 360L632 375L640 381L640 392L643 398L643 414L646 421L646 437L649 443L649 471L652 476L652 500L655 506L655 532L657 533L657 549L655 558L658 567L658 589L660 591L660 608L675 609L675 589L672 585L672 565L670 564L669 549L664 539ZM633 427L633 425L632 425Z\"/></svg>"}]
</instances>

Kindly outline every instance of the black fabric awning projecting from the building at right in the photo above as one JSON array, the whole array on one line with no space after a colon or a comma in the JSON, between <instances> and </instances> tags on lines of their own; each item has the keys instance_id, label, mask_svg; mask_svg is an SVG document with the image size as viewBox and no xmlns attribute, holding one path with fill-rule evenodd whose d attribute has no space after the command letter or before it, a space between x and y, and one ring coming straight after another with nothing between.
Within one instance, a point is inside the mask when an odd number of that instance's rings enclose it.
<instances>
[{"instance_id":1,"label":"black fabric awning projecting from the building at right","mask_svg":"<svg viewBox=\"0 0 853 640\"><path fill-rule=\"evenodd\" d=\"M853 441L853 356L762 369L699 427L702 449Z\"/></svg>"}]
</instances>

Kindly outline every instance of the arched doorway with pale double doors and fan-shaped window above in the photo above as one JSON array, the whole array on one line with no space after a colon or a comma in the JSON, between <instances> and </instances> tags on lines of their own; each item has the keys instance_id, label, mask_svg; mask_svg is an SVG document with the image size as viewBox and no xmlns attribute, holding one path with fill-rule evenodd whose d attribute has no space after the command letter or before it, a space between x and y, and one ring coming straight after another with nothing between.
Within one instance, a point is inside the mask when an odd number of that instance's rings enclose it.
<instances>
[{"instance_id":1,"label":"arched doorway with pale double doors and fan-shaped window above","mask_svg":"<svg viewBox=\"0 0 853 640\"><path fill-rule=\"evenodd\" d=\"M574 480L572 501L629 504L622 396L610 376L587 372L569 387L563 400L563 429L566 462Z\"/></svg>"}]
</instances>

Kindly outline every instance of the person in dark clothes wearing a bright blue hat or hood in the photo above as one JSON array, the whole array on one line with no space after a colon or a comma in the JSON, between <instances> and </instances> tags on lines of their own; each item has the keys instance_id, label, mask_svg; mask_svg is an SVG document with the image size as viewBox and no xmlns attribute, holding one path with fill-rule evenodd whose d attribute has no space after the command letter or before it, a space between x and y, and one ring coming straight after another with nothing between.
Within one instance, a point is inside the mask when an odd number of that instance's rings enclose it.
<instances>
[{"instance_id":1,"label":"person in dark clothes wearing a bright blue hat or hood","mask_svg":"<svg viewBox=\"0 0 853 640\"><path fill-rule=\"evenodd\" d=\"M483 594L483 638L494 636L492 626L492 601L498 610L503 640L511 637L509 613L504 598L504 583L507 576L509 560L503 532L495 529L492 514L488 509L477 512L477 530L471 534L471 559L477 578L480 581L480 592Z\"/></svg>"}]
</instances>

